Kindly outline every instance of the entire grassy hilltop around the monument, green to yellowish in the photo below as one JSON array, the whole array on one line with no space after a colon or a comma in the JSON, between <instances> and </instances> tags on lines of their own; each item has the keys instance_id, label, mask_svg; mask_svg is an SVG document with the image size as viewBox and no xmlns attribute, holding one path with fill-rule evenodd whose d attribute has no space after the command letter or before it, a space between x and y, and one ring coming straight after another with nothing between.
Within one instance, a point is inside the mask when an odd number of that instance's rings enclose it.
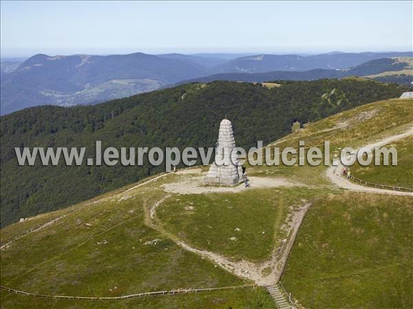
<instances>
[{"instance_id":1,"label":"entire grassy hilltop around the monument, green to yellowish","mask_svg":"<svg viewBox=\"0 0 413 309\"><path fill-rule=\"evenodd\" d=\"M342 147L361 147L407 130L412 116L413 100L383 100L312 122L273 145L297 147L298 140L305 140L311 146L327 139L335 156ZM410 159L402 150L397 168L410 167ZM261 266L259 275L265 279L277 270L264 266L290 237L293 215L310 202L282 275L299 306L410 308L411 197L343 191L326 179L326 167L309 166L247 167L251 178L282 179L290 184L285 187L259 187L253 181L251 188L237 193L178 194L168 189L191 185L205 170L160 175L140 187L129 184L6 226L2 243L56 220L2 250L1 284L81 296L249 284L253 281L248 275L236 276L178 243L215 253L234 265ZM392 169L377 175L396 182L405 178ZM276 308L264 288L100 302L4 291L1 298L4 308Z\"/></svg>"}]
</instances>

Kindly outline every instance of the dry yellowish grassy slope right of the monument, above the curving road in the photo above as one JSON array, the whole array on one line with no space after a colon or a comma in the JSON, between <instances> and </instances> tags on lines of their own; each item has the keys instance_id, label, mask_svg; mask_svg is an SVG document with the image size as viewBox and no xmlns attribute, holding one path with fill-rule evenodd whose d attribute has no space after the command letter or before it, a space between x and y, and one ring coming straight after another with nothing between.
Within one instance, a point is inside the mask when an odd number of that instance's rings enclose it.
<instances>
[{"instance_id":1,"label":"dry yellowish grassy slope right of the monument, above the curving road","mask_svg":"<svg viewBox=\"0 0 413 309\"><path fill-rule=\"evenodd\" d=\"M413 100L384 100L309 123L304 129L295 131L268 147L271 149L279 147L281 151L286 147L298 149L299 140L303 140L305 147L321 145L321 149L324 149L322 145L325 140L328 140L330 141L330 156L337 157L343 147L357 149L385 136L405 131L412 126L412 118ZM399 158L402 156L405 156L403 151ZM410 164L408 159L399 160L398 169L408 171ZM247 164L248 175L285 177L311 186L330 187L330 182L324 177L325 170L326 167L323 165L310 167L306 164L304 167L297 165L286 167L282 164L277 167L272 165L251 167ZM383 167L382 170L387 171L387 168Z\"/></svg>"}]
</instances>

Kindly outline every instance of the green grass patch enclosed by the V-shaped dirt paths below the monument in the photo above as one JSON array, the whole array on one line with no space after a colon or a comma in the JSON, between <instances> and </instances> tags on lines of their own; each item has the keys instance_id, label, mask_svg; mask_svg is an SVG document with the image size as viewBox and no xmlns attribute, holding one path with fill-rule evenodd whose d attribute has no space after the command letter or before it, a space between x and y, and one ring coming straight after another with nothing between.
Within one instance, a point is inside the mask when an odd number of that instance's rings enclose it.
<instances>
[{"instance_id":1,"label":"green grass patch enclosed by the V-shaped dirt paths below the monument","mask_svg":"<svg viewBox=\"0 0 413 309\"><path fill-rule=\"evenodd\" d=\"M197 248L235 260L260 261L270 258L274 246L286 237L282 225L291 209L317 194L321 191L279 188L182 195L167 200L157 214L167 231Z\"/></svg>"}]
</instances>

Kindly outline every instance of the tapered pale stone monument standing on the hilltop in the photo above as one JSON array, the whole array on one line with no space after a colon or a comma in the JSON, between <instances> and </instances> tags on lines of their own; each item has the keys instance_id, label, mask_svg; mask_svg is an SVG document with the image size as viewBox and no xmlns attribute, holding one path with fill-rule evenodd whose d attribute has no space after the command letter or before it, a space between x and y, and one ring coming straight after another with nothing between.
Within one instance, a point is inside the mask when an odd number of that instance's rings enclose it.
<instances>
[{"instance_id":1,"label":"tapered pale stone monument standing on the hilltop","mask_svg":"<svg viewBox=\"0 0 413 309\"><path fill-rule=\"evenodd\" d=\"M236 158L235 138L231 121L224 119L220 123L218 145L215 148L215 161L209 168L205 183L233 185L242 179L242 167ZM231 158L232 154L232 158Z\"/></svg>"}]
</instances>

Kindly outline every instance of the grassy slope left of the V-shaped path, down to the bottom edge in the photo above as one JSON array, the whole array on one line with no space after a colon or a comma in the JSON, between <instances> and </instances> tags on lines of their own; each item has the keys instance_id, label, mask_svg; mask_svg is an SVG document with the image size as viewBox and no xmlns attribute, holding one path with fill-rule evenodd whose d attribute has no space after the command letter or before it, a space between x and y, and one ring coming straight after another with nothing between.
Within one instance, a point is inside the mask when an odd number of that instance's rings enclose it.
<instances>
[{"instance_id":1,"label":"grassy slope left of the V-shaped path, down to the bottom edge","mask_svg":"<svg viewBox=\"0 0 413 309\"><path fill-rule=\"evenodd\" d=\"M43 294L83 296L119 296L152 290L245 284L246 281L184 251L143 224L144 205L155 202L165 194L153 187L160 183L147 184L134 191L134 195L114 195L110 200L90 204L67 214L52 226L14 242L1 254L1 284ZM55 212L54 215L65 211ZM40 223L44 219L39 217L28 222ZM145 244L153 239L160 239L160 242ZM260 303L263 303L262 307L257 308L273 306L271 299L261 289L206 292L205 295L162 299L109 301L105 306L225 309L230 306L250 308L252 304ZM70 301L32 299L8 293L2 295L1 303L4 308L75 306ZM97 308L96 301L83 301L82 308Z\"/></svg>"}]
</instances>

